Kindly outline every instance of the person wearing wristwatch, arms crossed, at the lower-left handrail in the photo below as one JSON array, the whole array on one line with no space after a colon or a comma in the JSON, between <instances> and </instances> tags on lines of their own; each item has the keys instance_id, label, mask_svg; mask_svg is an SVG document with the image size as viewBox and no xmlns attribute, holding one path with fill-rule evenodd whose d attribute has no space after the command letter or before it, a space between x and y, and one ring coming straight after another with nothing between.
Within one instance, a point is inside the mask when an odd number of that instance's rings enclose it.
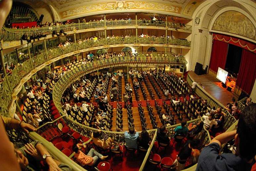
<instances>
[{"instance_id":1,"label":"person wearing wristwatch, arms crossed, at the lower-left handrail","mask_svg":"<svg viewBox=\"0 0 256 171\"><path fill-rule=\"evenodd\" d=\"M68 165L53 159L39 141L33 141L20 149L15 149L15 153L22 170L40 170L38 168L38 163L41 160L46 162L49 170L72 170Z\"/></svg>"}]
</instances>

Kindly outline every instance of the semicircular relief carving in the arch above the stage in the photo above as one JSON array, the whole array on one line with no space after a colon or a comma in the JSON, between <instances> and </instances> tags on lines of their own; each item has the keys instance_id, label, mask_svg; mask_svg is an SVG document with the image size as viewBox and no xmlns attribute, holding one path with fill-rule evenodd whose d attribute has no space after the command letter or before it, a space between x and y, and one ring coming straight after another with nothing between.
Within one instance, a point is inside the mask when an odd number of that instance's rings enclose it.
<instances>
[{"instance_id":1,"label":"semicircular relief carving in the arch above the stage","mask_svg":"<svg viewBox=\"0 0 256 171\"><path fill-rule=\"evenodd\" d=\"M212 30L224 31L256 40L253 23L243 14L236 11L222 13L215 21Z\"/></svg>"}]
</instances>

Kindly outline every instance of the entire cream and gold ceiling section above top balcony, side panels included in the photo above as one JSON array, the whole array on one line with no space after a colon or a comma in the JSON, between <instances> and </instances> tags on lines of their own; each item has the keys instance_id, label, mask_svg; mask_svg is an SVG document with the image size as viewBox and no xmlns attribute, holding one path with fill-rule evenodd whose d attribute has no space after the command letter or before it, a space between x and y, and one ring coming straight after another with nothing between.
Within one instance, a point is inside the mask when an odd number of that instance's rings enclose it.
<instances>
[{"instance_id":1,"label":"entire cream and gold ceiling section above top balcony, side panels included","mask_svg":"<svg viewBox=\"0 0 256 171\"><path fill-rule=\"evenodd\" d=\"M66 20L95 14L147 12L191 18L205 0L41 0L50 6L55 20Z\"/></svg>"}]
</instances>

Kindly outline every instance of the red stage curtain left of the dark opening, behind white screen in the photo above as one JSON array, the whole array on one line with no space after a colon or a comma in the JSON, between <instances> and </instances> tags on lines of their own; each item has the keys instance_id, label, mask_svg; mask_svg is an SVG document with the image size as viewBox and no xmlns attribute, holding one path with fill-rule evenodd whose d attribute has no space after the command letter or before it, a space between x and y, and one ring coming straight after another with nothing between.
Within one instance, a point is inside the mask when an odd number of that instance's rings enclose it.
<instances>
[{"instance_id":1,"label":"red stage curtain left of the dark opening, behind white screen","mask_svg":"<svg viewBox=\"0 0 256 171\"><path fill-rule=\"evenodd\" d=\"M218 67L225 69L228 54L228 43L213 40L210 69L218 72Z\"/></svg>"}]
</instances>

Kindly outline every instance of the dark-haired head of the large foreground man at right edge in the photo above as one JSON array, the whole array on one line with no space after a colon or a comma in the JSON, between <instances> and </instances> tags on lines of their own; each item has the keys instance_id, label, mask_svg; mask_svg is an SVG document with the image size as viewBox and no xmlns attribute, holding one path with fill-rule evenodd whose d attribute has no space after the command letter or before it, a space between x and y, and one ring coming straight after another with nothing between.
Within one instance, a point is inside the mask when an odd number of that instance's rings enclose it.
<instances>
[{"instance_id":1,"label":"dark-haired head of the large foreground man at right edge","mask_svg":"<svg viewBox=\"0 0 256 171\"><path fill-rule=\"evenodd\" d=\"M236 153L246 161L256 154L256 104L247 106L238 120L235 134Z\"/></svg>"}]
</instances>

